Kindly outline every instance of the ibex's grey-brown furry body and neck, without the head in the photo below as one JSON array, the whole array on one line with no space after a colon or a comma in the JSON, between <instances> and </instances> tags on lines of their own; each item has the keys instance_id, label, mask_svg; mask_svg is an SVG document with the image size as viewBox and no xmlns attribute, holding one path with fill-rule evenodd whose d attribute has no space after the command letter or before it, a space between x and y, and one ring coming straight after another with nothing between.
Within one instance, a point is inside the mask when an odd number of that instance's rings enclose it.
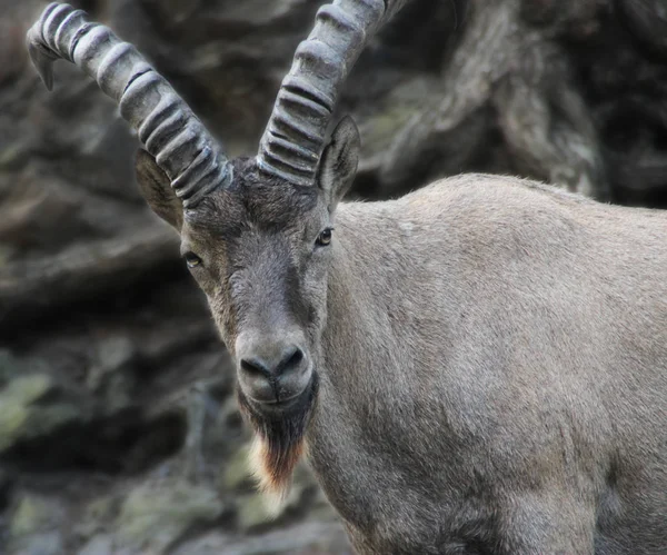
<instances>
[{"instance_id":1,"label":"ibex's grey-brown furry body and neck, without the head","mask_svg":"<svg viewBox=\"0 0 667 555\"><path fill-rule=\"evenodd\" d=\"M664 553L667 215L465 176L341 205L312 465L360 553Z\"/></svg>"}]
</instances>

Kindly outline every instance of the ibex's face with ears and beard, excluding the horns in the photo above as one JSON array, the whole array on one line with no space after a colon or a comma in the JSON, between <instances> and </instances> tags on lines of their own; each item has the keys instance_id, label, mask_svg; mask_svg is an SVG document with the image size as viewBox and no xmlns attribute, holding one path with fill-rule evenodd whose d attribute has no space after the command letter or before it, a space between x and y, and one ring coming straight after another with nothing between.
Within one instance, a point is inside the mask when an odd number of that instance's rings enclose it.
<instances>
[{"instance_id":1,"label":"ibex's face with ears and beard, excluding the horns","mask_svg":"<svg viewBox=\"0 0 667 555\"><path fill-rule=\"evenodd\" d=\"M267 181L255 160L235 160L232 185L185 211L152 157L139 152L141 191L180 232L181 254L237 361L239 402L263 440L257 463L268 488L289 479L316 400L334 211L352 182L358 147L346 118L315 187Z\"/></svg>"}]
</instances>

